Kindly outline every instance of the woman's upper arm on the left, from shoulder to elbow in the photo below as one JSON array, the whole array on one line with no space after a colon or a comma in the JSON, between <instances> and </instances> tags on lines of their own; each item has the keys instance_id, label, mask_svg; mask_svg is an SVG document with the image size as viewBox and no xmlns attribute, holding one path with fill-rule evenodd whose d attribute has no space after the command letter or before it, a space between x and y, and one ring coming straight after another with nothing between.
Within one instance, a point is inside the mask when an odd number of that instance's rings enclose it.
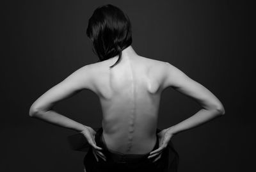
<instances>
[{"instance_id":1,"label":"woman's upper arm on the left, from shoulder to elbow","mask_svg":"<svg viewBox=\"0 0 256 172\"><path fill-rule=\"evenodd\" d=\"M47 111L51 109L56 102L68 97L72 97L83 89L90 89L92 87L92 75L90 67L83 66L68 75L60 83L53 86L40 96L31 106L29 111Z\"/></svg>"}]
</instances>

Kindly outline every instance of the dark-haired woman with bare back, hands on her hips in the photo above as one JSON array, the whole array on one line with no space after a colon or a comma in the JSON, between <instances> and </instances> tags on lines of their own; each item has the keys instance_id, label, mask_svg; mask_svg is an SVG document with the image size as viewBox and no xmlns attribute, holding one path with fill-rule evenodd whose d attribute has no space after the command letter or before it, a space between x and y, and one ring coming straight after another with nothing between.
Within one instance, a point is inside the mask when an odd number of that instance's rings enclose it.
<instances>
[{"instance_id":1,"label":"dark-haired woman with bare back, hands on her hips","mask_svg":"<svg viewBox=\"0 0 256 172\"><path fill-rule=\"evenodd\" d=\"M116 6L97 8L86 35L100 62L79 68L46 91L33 103L29 116L81 132L90 144L84 157L86 171L177 171L179 155L170 139L225 114L220 100L170 63L136 54L131 22ZM160 131L159 100L169 87L194 98L202 109ZM97 132L52 110L56 102L84 89L100 98L102 128Z\"/></svg>"}]
</instances>

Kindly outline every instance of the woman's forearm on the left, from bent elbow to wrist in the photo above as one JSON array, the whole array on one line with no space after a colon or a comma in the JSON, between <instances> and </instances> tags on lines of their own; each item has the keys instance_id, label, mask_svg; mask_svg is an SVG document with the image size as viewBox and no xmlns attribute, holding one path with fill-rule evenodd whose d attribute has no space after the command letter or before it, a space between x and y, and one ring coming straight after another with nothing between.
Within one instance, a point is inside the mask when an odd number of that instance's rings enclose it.
<instances>
[{"instance_id":1,"label":"woman's forearm on the left, from bent elbow to wrist","mask_svg":"<svg viewBox=\"0 0 256 172\"><path fill-rule=\"evenodd\" d=\"M31 115L31 117L39 118L40 120L44 120L54 125L65 127L67 129L76 130L78 132L81 132L82 130L84 130L85 127L88 127L86 125L78 123L77 121L71 120L70 118L67 118L66 116L63 116L62 114L59 114L53 110L38 111Z\"/></svg>"}]
</instances>

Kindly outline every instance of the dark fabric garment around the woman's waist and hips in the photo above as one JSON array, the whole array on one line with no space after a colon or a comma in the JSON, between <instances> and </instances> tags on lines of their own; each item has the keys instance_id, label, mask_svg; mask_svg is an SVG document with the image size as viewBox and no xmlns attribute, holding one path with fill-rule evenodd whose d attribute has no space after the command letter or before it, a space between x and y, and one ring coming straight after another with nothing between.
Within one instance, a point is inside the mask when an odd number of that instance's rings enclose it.
<instances>
[{"instance_id":1,"label":"dark fabric garment around the woman's waist and hips","mask_svg":"<svg viewBox=\"0 0 256 172\"><path fill-rule=\"evenodd\" d=\"M96 145L101 147L101 152L106 155L106 161L101 159L98 156L99 162L95 159L93 155L92 146L90 146L88 153L86 153L84 157L84 167L86 168L86 172L100 172L100 171L157 171L157 172L177 172L179 165L179 154L173 148L172 141L168 143L167 148L165 148L162 152L162 156L160 159L156 160L156 162L152 162L154 158L148 159L149 153L146 154L124 154L120 152L115 152L113 150L109 150L106 146L106 142L104 141L104 137L102 137L103 129L102 127L98 128L95 134L95 142ZM157 135L161 130L156 130L157 141L153 148L156 150L159 148L159 137ZM153 151L152 150L152 151ZM152 152L150 151L150 152Z\"/></svg>"}]
</instances>

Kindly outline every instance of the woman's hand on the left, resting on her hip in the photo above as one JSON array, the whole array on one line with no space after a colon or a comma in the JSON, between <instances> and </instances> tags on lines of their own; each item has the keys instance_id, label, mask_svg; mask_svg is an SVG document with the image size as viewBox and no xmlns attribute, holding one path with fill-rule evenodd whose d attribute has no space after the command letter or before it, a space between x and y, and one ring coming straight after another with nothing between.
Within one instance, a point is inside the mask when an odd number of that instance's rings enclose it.
<instances>
[{"instance_id":1,"label":"woman's hand on the left, resting on her hip","mask_svg":"<svg viewBox=\"0 0 256 172\"><path fill-rule=\"evenodd\" d=\"M92 146L93 155L95 156L95 159L97 160L97 162L99 161L97 155L106 161L106 156L102 152L100 152L100 150L102 150L102 148L100 148L99 146L96 145L95 130L93 130L92 127L86 126L86 127L84 127L84 130L81 131L81 134L83 134L83 136L86 137L88 143Z\"/></svg>"}]
</instances>

